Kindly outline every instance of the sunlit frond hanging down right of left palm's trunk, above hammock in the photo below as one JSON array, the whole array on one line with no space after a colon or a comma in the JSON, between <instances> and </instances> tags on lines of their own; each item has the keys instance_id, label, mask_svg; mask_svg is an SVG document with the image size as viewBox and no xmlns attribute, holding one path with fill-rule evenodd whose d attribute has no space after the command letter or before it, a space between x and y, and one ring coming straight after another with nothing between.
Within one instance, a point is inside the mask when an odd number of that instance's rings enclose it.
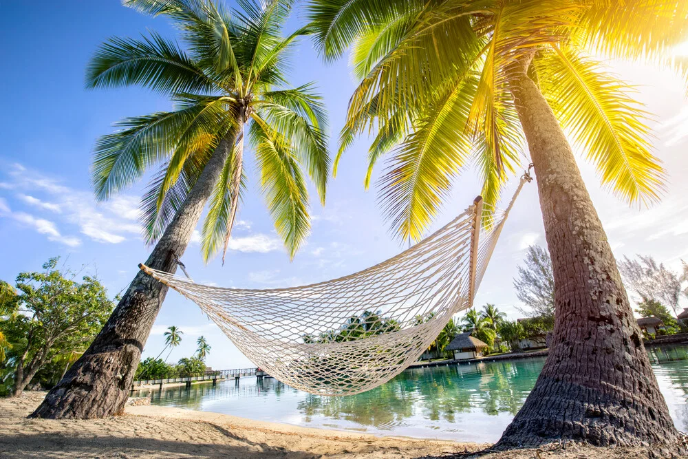
<instances>
[{"instance_id":1,"label":"sunlit frond hanging down right of left palm's trunk, above hammock","mask_svg":"<svg viewBox=\"0 0 688 459\"><path fill-rule=\"evenodd\" d=\"M266 120L252 114L250 142L256 151L261 191L290 257L310 233L308 189L288 138L272 130Z\"/></svg>"}]
</instances>

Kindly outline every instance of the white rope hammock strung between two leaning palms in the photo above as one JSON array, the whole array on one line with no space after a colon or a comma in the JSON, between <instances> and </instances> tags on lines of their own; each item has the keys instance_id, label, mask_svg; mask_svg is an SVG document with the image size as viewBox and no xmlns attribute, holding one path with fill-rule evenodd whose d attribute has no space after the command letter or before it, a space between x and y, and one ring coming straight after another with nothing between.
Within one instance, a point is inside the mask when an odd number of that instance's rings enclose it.
<instances>
[{"instance_id":1,"label":"white rope hammock strung between two leaning palms","mask_svg":"<svg viewBox=\"0 0 688 459\"><path fill-rule=\"evenodd\" d=\"M140 268L195 301L246 356L297 389L365 392L418 360L449 319L471 308L506 210L482 226L479 196L452 222L396 257L358 273L294 288L195 284Z\"/></svg>"}]
</instances>

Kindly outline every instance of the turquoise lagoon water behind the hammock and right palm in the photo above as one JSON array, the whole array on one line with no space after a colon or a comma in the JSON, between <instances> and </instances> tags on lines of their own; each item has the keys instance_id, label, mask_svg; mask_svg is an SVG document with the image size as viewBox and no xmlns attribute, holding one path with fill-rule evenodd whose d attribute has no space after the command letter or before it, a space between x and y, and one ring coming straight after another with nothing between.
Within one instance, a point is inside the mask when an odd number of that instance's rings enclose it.
<instances>
[{"instance_id":1,"label":"turquoise lagoon water behind the hammock and right palm","mask_svg":"<svg viewBox=\"0 0 688 459\"><path fill-rule=\"evenodd\" d=\"M688 431L688 347L649 350L676 427ZM377 435L494 442L526 400L544 358L406 370L363 394L323 397L268 378L138 391L153 405Z\"/></svg>"}]
</instances>

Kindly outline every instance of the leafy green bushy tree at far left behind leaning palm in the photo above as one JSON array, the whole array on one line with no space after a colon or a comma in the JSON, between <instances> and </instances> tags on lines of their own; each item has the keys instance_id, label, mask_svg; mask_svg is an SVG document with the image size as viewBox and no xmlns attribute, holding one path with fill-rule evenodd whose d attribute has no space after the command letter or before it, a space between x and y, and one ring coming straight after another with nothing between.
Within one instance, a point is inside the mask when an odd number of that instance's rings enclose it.
<instances>
[{"instance_id":1,"label":"leafy green bushy tree at far left behind leaning palm","mask_svg":"<svg viewBox=\"0 0 688 459\"><path fill-rule=\"evenodd\" d=\"M58 268L19 273L14 294L3 300L0 330L4 359L0 393L19 395L29 385L51 387L103 327L114 304L94 277ZM6 284L6 283L5 283ZM8 285L8 284L6 284Z\"/></svg>"}]
</instances>

